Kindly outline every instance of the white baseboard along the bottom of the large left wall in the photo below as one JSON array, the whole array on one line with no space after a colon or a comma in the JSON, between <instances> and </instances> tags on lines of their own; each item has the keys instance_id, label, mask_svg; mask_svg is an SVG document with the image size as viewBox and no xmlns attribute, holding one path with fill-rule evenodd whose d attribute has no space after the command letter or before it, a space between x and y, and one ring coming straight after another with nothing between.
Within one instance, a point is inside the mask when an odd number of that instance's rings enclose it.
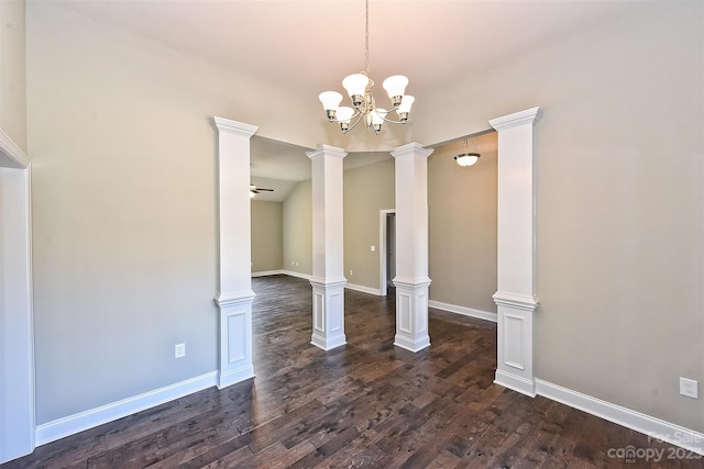
<instances>
[{"instance_id":1,"label":"white baseboard along the bottom of the large left wall","mask_svg":"<svg viewBox=\"0 0 704 469\"><path fill-rule=\"evenodd\" d=\"M165 402L193 394L194 392L202 391L204 389L216 386L216 379L217 372L211 371L143 394L133 395L121 401L38 425L35 434L36 445L45 445Z\"/></svg>"}]
</instances>

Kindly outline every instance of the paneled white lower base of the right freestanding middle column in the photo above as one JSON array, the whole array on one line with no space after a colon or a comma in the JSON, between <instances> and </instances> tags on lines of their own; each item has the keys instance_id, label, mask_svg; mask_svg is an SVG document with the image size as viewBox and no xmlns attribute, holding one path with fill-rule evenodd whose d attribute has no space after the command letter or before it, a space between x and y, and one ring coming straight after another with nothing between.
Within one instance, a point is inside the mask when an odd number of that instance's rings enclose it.
<instances>
[{"instance_id":1,"label":"paneled white lower base of the right freestanding middle column","mask_svg":"<svg viewBox=\"0 0 704 469\"><path fill-rule=\"evenodd\" d=\"M396 287L396 336L394 345L410 351L430 346L428 335L428 287L430 279L394 279Z\"/></svg>"}]
</instances>

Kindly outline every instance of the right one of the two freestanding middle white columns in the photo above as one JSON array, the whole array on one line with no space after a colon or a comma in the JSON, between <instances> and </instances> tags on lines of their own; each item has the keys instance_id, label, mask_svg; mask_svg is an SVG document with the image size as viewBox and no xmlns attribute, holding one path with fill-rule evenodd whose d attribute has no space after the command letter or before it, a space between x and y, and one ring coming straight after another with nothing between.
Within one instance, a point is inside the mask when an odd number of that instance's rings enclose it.
<instances>
[{"instance_id":1,"label":"right one of the two freestanding middle white columns","mask_svg":"<svg viewBox=\"0 0 704 469\"><path fill-rule=\"evenodd\" d=\"M428 335L428 156L418 143L392 152L396 159L396 336L410 351L430 346Z\"/></svg>"}]
</instances>

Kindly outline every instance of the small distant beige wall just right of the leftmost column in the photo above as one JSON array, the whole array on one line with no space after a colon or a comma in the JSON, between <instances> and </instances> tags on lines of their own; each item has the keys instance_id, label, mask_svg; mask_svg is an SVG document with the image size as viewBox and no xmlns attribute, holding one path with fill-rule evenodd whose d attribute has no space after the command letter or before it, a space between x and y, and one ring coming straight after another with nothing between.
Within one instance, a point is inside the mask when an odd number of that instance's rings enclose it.
<instances>
[{"instance_id":1,"label":"small distant beige wall just right of the leftmost column","mask_svg":"<svg viewBox=\"0 0 704 469\"><path fill-rule=\"evenodd\" d=\"M284 204L252 200L252 272L284 268Z\"/></svg>"}]
</instances>

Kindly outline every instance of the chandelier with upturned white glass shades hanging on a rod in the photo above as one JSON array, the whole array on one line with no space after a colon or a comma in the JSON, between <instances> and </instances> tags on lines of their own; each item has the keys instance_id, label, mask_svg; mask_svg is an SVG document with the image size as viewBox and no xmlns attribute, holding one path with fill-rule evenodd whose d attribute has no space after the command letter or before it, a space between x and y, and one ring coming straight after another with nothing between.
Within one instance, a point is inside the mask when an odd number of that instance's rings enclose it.
<instances>
[{"instance_id":1,"label":"chandelier with upturned white glass shades hanging on a rod","mask_svg":"<svg viewBox=\"0 0 704 469\"><path fill-rule=\"evenodd\" d=\"M366 0L366 29L364 36L365 47L365 71L353 74L345 77L342 80L342 87L348 91L353 108L341 107L342 94L337 91L323 91L318 99L322 102L322 108L328 114L328 121L338 122L340 130L343 134L348 133L352 129L356 127L360 121L364 121L364 125L367 130L373 130L376 135L382 130L384 122L393 124L405 124L408 121L408 113L410 107L416 100L413 96L404 94L406 86L408 85L408 78L403 75L394 75L384 80L382 86L388 93L388 98L392 101L393 110L386 110L376 107L374 101L374 80L369 77L370 72L370 2ZM387 119L389 112L396 111L398 120ZM354 121L354 124L350 125Z\"/></svg>"}]
</instances>

